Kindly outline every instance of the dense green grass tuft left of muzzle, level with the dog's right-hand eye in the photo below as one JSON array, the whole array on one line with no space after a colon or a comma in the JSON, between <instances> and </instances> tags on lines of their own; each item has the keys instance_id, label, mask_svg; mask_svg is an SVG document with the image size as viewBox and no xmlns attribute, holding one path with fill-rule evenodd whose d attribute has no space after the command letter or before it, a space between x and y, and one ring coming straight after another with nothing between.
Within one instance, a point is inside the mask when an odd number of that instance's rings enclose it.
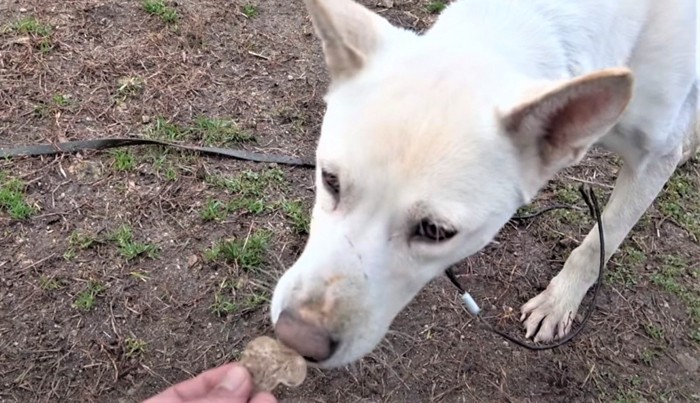
<instances>
[{"instance_id":1,"label":"dense green grass tuft left of muzzle, level with the dog's right-hand eye","mask_svg":"<svg viewBox=\"0 0 700 403\"><path fill-rule=\"evenodd\" d=\"M233 263L246 271L256 271L265 260L270 234L256 231L247 239L221 240L204 251L208 261L225 261Z\"/></svg>"}]
</instances>

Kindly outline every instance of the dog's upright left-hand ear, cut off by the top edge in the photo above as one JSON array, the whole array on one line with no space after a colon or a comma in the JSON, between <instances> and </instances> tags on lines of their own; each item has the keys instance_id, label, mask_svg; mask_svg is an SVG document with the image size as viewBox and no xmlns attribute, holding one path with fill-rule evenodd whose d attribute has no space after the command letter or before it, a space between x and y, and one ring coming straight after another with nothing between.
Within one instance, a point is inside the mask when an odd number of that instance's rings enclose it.
<instances>
[{"instance_id":1,"label":"dog's upright left-hand ear, cut off by the top edge","mask_svg":"<svg viewBox=\"0 0 700 403\"><path fill-rule=\"evenodd\" d=\"M396 29L353 0L305 0L331 79L350 78L381 45L381 34Z\"/></svg>"}]
</instances>

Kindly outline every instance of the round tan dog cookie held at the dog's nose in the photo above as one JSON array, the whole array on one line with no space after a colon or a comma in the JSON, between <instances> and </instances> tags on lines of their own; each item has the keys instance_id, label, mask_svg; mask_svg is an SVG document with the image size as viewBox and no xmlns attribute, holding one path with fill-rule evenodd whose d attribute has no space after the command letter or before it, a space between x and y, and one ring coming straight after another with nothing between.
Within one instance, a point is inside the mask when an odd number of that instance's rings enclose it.
<instances>
[{"instance_id":1,"label":"round tan dog cookie held at the dog's nose","mask_svg":"<svg viewBox=\"0 0 700 403\"><path fill-rule=\"evenodd\" d=\"M296 387L306 379L306 360L268 336L248 343L239 362L253 375L258 391L271 392L280 383Z\"/></svg>"}]
</instances>

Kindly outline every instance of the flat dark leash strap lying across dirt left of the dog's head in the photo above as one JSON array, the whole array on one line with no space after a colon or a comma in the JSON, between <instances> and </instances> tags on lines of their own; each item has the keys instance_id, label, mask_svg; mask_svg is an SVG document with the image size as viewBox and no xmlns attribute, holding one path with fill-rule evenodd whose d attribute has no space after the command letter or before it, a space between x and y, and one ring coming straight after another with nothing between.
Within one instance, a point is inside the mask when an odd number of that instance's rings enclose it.
<instances>
[{"instance_id":1,"label":"flat dark leash strap lying across dirt left of the dog's head","mask_svg":"<svg viewBox=\"0 0 700 403\"><path fill-rule=\"evenodd\" d=\"M104 150L108 148L136 146L136 145L160 145L178 148L181 150L194 151L201 154L218 155L234 158L243 161L276 163L282 165L293 165L304 168L313 168L314 162L304 158L288 157L285 155L262 154L247 150L200 147L185 144L170 143L161 140L141 139L141 138L105 138L94 140L68 141L56 144L38 144L17 148L0 148L0 158L13 157L34 157L40 155L69 154L78 151Z\"/></svg>"}]
</instances>

